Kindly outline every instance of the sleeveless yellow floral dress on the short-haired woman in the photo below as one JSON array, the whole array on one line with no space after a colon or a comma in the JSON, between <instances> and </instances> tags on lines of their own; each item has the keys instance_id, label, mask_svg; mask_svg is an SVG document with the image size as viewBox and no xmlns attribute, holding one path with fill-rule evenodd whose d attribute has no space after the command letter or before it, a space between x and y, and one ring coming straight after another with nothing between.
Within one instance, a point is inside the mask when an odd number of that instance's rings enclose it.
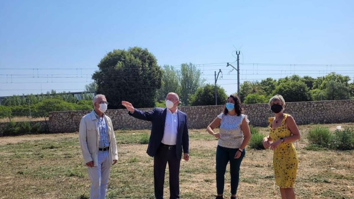
<instances>
[{"instance_id":1,"label":"sleeveless yellow floral dress on the short-haired woman","mask_svg":"<svg viewBox=\"0 0 354 199\"><path fill-rule=\"evenodd\" d=\"M273 141L279 140L281 137L286 138L291 136L290 130L285 127L285 120L288 115L289 114L284 113L281 125L276 129L272 129L271 127L274 118L268 119L269 135ZM294 186L297 164L297 152L292 143L280 143L279 146L274 149L273 166L275 182L280 188L292 188Z\"/></svg>"}]
</instances>

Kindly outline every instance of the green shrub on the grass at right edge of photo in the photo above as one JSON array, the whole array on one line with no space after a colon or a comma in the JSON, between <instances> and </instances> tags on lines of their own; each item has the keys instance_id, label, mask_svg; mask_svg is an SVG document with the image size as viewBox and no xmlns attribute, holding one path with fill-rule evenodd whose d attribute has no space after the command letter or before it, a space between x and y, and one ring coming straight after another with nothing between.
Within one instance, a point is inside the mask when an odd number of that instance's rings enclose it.
<instances>
[{"instance_id":1,"label":"green shrub on the grass at right edge of photo","mask_svg":"<svg viewBox=\"0 0 354 199\"><path fill-rule=\"evenodd\" d=\"M354 128L336 130L333 135L333 148L339 150L354 149Z\"/></svg>"}]
</instances>

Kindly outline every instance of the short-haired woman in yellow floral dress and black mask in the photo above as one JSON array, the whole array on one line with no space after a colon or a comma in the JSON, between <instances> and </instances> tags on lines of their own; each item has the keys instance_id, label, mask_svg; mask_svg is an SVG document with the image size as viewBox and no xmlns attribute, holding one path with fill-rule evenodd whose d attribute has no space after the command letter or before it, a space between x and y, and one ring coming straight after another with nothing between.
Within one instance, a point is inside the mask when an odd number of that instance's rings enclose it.
<instances>
[{"instance_id":1,"label":"short-haired woman in yellow floral dress and black mask","mask_svg":"<svg viewBox=\"0 0 354 199\"><path fill-rule=\"evenodd\" d=\"M269 106L275 115L273 118L268 119L269 136L263 138L263 146L274 151L275 182L279 186L281 198L295 199L293 187L298 158L292 142L299 140L300 132L294 118L289 114L283 113L285 101L281 95L275 95L270 98Z\"/></svg>"}]
</instances>

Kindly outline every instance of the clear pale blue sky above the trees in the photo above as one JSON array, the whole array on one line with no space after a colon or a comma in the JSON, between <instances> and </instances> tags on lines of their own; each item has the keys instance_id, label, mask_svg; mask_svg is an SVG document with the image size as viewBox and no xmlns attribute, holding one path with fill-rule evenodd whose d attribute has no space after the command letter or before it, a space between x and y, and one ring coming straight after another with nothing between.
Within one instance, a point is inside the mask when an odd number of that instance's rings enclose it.
<instances>
[{"instance_id":1,"label":"clear pale blue sky above the trees","mask_svg":"<svg viewBox=\"0 0 354 199\"><path fill-rule=\"evenodd\" d=\"M161 66L201 64L210 83L222 69L217 83L227 94L237 90L237 73L226 67L236 49L241 83L331 71L353 80L353 35L353 0L1 0L0 96L82 91L107 52L131 46L147 48Z\"/></svg>"}]
</instances>

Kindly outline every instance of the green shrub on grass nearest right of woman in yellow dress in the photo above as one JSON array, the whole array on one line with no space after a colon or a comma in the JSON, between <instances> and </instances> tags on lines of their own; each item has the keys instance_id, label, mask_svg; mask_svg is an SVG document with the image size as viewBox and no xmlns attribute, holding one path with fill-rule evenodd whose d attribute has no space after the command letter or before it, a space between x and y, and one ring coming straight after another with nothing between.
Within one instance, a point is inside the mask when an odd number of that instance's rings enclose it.
<instances>
[{"instance_id":1,"label":"green shrub on grass nearest right of woman in yellow dress","mask_svg":"<svg viewBox=\"0 0 354 199\"><path fill-rule=\"evenodd\" d=\"M316 126L307 133L307 140L311 144L328 148L332 141L332 133L326 127Z\"/></svg>"}]
</instances>

